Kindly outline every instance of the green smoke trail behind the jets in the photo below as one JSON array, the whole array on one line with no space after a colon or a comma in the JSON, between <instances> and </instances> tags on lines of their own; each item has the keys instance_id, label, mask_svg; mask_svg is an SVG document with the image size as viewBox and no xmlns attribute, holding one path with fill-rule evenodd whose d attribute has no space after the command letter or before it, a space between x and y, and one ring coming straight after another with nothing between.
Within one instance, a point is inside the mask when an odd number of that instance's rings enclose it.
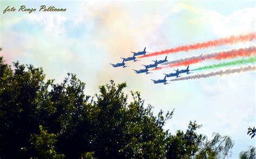
<instances>
[{"instance_id":1,"label":"green smoke trail behind the jets","mask_svg":"<svg viewBox=\"0 0 256 159\"><path fill-rule=\"evenodd\" d=\"M230 62L226 62L226 63L219 63L219 64L214 64L214 65L198 67L198 68L194 69L193 71L207 70L207 69L212 69L212 68L240 65L240 64L248 64L248 63L255 63L255 62L256 62L256 57L251 57L248 59L241 59L241 60L235 60L235 61L230 61Z\"/></svg>"}]
</instances>

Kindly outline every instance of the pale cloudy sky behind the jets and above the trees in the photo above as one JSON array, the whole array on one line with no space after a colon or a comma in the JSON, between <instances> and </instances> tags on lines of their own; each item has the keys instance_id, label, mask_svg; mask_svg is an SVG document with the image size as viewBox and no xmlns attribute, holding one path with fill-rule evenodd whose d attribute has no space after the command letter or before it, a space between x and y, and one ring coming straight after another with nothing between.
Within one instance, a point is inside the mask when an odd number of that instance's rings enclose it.
<instances>
[{"instance_id":1,"label":"pale cloudy sky behind the jets and above the trees","mask_svg":"<svg viewBox=\"0 0 256 159\"><path fill-rule=\"evenodd\" d=\"M36 11L19 12L21 5ZM41 5L66 11L39 12ZM3 13L7 6L16 11ZM139 91L155 113L174 109L165 125L171 133L186 130L188 122L196 120L203 125L198 133L209 139L214 132L231 136L234 147L230 158L238 158L240 151L255 146L255 140L246 134L256 121L255 72L155 85L150 79L161 79L174 68L147 75L132 69L139 70L142 64L165 55L129 61L126 68L109 65L144 47L155 52L255 32L255 1L0 1L0 8L0 56L6 63L18 60L43 67L46 78L56 83L68 72L75 73L86 83L86 95L98 93L98 87L110 80L126 82L125 93ZM253 45L255 40L179 52L169 54L167 60ZM216 63L204 61L190 68Z\"/></svg>"}]
</instances>

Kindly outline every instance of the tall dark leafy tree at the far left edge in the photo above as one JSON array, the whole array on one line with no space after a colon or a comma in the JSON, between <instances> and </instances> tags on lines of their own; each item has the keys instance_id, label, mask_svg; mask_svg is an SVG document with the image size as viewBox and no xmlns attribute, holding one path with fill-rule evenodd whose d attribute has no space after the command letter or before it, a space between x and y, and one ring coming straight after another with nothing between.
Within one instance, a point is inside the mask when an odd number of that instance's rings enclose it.
<instances>
[{"instance_id":1,"label":"tall dark leafy tree at the far left edge","mask_svg":"<svg viewBox=\"0 0 256 159\"><path fill-rule=\"evenodd\" d=\"M19 158L21 148L29 146L31 133L37 133L37 107L44 89L42 68L14 63L4 64L0 57L0 154ZM28 156L24 156L28 158Z\"/></svg>"}]
</instances>

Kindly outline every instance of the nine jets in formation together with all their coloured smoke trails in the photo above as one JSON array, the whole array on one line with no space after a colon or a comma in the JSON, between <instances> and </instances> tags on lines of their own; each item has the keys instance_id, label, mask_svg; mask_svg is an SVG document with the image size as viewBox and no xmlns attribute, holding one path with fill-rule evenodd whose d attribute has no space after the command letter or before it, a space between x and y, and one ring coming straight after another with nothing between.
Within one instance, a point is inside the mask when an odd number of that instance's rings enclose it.
<instances>
[{"instance_id":1,"label":"nine jets in formation together with all their coloured smoke trails","mask_svg":"<svg viewBox=\"0 0 256 159\"><path fill-rule=\"evenodd\" d=\"M205 42L180 45L176 47L172 47L167 50L160 50L156 52L146 52L146 47L143 51L132 52L133 56L128 58L122 58L122 63L111 64L113 67L128 67L125 62L126 61L138 61L138 59L146 58L146 57L156 57L167 54L174 54L179 52L190 52L192 50L204 50L215 48L215 51L209 53L200 53L194 54L193 56L188 56L180 59L175 59L172 61L167 60L167 56L165 59L161 60L153 60L153 63L149 65L143 65L145 68L141 70L133 70L136 73L152 73L152 71L162 70L164 68L173 68L173 67L186 67L184 70L174 70L175 72L164 73L165 77L163 79L153 80L154 84L169 84L167 81L181 81L181 80L191 80L191 79L200 79L200 78L209 78L214 76L221 75L229 75L233 73L242 73L242 72L255 72L256 71L256 32L240 34L237 36L230 36L219 38L215 40L207 40ZM251 46L240 47L240 48L232 48L234 44L238 43L251 43ZM219 46L223 45L231 45L230 49L219 50ZM215 63L205 65L204 61L215 61ZM223 61L225 60L225 61ZM194 68L193 70L189 69L190 65L194 64L203 64L200 67ZM240 67L234 67L239 66ZM228 67L227 69L222 69L224 67ZM214 70L211 72L207 72L207 70ZM190 74L193 71L203 71L193 75L184 75L181 77L180 74ZM173 77L173 78L171 78ZM171 78L167 80L167 78Z\"/></svg>"}]
</instances>

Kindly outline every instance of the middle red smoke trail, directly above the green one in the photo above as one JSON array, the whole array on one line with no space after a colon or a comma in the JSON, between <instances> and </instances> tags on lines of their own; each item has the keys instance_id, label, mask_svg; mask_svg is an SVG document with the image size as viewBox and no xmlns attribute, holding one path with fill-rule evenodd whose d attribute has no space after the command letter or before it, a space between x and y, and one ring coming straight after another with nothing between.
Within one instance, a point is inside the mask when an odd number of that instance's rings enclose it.
<instances>
[{"instance_id":1,"label":"middle red smoke trail, directly above the green one","mask_svg":"<svg viewBox=\"0 0 256 159\"><path fill-rule=\"evenodd\" d=\"M187 66L191 64L197 64L204 60L221 60L221 59L232 59L237 57L250 57L256 54L256 47L251 46L248 48L242 49L233 49L229 51L221 51L221 52L213 52L208 54L200 54L199 56L192 56L188 58L178 59L174 61L170 61L168 63L164 63L163 67L154 68L153 70L161 70L162 68L169 68L169 67L178 67L178 66ZM152 70L152 71L153 71Z\"/></svg>"}]
</instances>

